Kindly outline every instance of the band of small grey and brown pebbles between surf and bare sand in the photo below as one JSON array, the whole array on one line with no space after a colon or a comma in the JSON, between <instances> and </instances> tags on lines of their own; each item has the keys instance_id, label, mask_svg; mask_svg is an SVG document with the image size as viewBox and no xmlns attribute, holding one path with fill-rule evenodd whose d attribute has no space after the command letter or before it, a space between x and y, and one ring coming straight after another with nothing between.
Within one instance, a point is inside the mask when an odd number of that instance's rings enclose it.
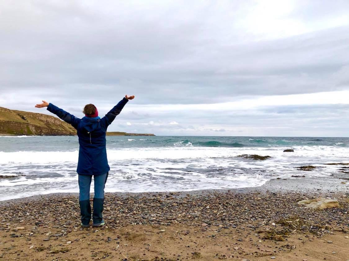
<instances>
[{"instance_id":1,"label":"band of small grey and brown pebbles between surf and bare sand","mask_svg":"<svg viewBox=\"0 0 349 261\"><path fill-rule=\"evenodd\" d=\"M108 194L105 198L105 206L108 208L106 211L108 212L104 213L104 215L105 220L108 222L108 226L111 229L129 226L131 223L141 223L145 226L156 227L156 232L165 232L165 229L163 229L167 228L165 225L178 226L178 224L183 224L194 226L195 230L198 231L198 236L201 236L199 235L201 233L200 231L207 231L205 233L207 233L207 236L210 238L209 240L218 238L217 241L221 239L220 235L225 235L225 233L229 233L229 230L233 230L235 235L232 240L234 243L236 243L236 247L233 247L233 244L231 248L234 249L235 253L242 249L242 247L237 247L241 241L246 242L246 244L251 241L251 245L260 244L261 249L267 248L267 245L262 246L263 244L261 244L264 241L261 238L265 236L265 233L255 233L259 230L267 231L267 229L274 229L275 226L278 227L278 230L279 228L281 230L283 225L279 222L279 220L286 219L294 213L302 216L302 219L306 221L304 228L300 228L302 233L298 234L298 237L302 235L304 240L308 239L308 237L305 237L304 235L311 235L310 233L312 232L315 232L317 235L319 235L319 237L329 234L329 230L319 229L319 226L316 226L317 224L329 224L330 226L334 226L338 232L340 228L346 228L347 220L345 219L345 215L343 215L343 209L333 209L333 211L336 211L335 213L338 215L328 215L328 212L325 211L314 213L313 211L309 211L305 208L299 208L297 204L294 204L295 202L298 202L299 198L304 197L304 194L302 194L303 192L291 192L287 194L282 192L263 193L265 193L265 195L263 195L262 199L258 201L255 199L260 196L260 194L254 192L249 194L240 194L236 192L215 194L200 193L200 195L195 195L194 197L186 196L184 198L176 197L176 195L174 195L174 197L166 198L165 194L163 194L163 196L159 199L156 197L151 197L149 199L147 193L142 193L140 196L135 195L132 197L127 195L125 197L121 197L116 194ZM156 196L157 195L159 194L156 194ZM160 199L163 200L160 201ZM210 204L209 206L207 205L208 202ZM82 240L85 243L87 240L89 240L87 237L75 239L77 234L79 234L77 232L73 232L72 235L69 234L72 231L79 231L80 229L79 204L77 204L76 196L67 196L65 199L62 199L61 196L54 195L47 197L43 196L42 199L28 201L28 203L25 205L18 203L11 204L13 204L13 206L11 205L11 208L6 206L6 209L4 206L0 206L0 213L2 213L0 215L0 219L3 220L1 229L3 229L4 232L6 231L5 233L8 242L19 242L20 238L24 237L26 239L31 238L31 243L29 243L30 245L28 245L28 247L33 244L35 244L35 246L39 246L40 244L43 244L42 240L50 240L50 242L46 243L47 245L50 245L52 242L52 246L64 244L67 247L66 244L72 244L72 241L74 241L73 245L75 245L79 243L79 240ZM18 206L18 209L15 206ZM285 208L285 206L287 207ZM67 209L72 209L72 211L67 213ZM109 209L111 210L109 211ZM280 209L282 211L280 211ZM29 213L28 211L30 211L29 216L25 215L26 213ZM23 221L23 223L20 223L20 220ZM270 223L273 222L272 220L274 220L275 223ZM5 224L7 225L5 226ZM22 224L23 226L26 226L26 231L22 233L23 235L18 235L20 234L19 232L13 233L11 236L17 237L17 239L10 239L10 233L13 232L11 231L11 224ZM314 229L310 228L309 225L314 225ZM15 226L16 225L13 227ZM213 229L210 229L212 227ZM223 228L227 228L227 230ZM106 240L106 237L109 234L104 234L107 231L104 229L106 229L106 227L101 228L99 231L88 228L83 232L86 231L86 233L90 233L91 235L93 234L93 236L98 237L98 240L102 240L101 242L98 241L98 243L103 244L103 242L110 241L109 238ZM51 231L52 234L50 233ZM171 229L166 231L168 231L169 234L172 234ZM30 236L24 235L27 232L28 234L31 232ZM96 234L92 232L95 232ZM159 234L160 237L163 235L161 233ZM185 228L179 230L176 233L176 236L178 234L182 237L185 235L188 235L188 238L193 237L191 236L192 233L188 234L187 231L185 231ZM349 235L347 235L342 234L342 236L345 238L348 238ZM38 239L36 236L40 238L38 243L35 240ZM43 237L47 238L43 239ZM119 236L116 235L116 237ZM183 239L185 239L185 237L183 237ZM70 238L72 241L63 242L62 239L64 238L65 240ZM316 237L312 238L314 241L319 240ZM117 240L120 239L118 238ZM239 241L239 244L237 244L237 241ZM295 241L298 242L298 240ZM326 243L326 241L327 240L322 239L322 242ZM25 240L23 240L23 242L26 244ZM288 243L290 242L291 240ZM110 244L112 243L114 243L114 241L112 241ZM269 243L269 240L265 243L272 245L270 247L268 246L269 248L267 248L269 249L269 254L277 254L279 251L282 252L287 250L281 245L275 248L275 242ZM328 240L327 243L331 244L333 242ZM247 248L248 247L246 247L246 251ZM246 258L246 256L244 256L244 258ZM268 256L266 258L275 259L276 257ZM278 259L280 258L281 256L279 256ZM302 260L300 258L301 257L298 256L298 260ZM25 258L23 260L25 260ZM246 260L248 259L246 258Z\"/></svg>"}]
</instances>

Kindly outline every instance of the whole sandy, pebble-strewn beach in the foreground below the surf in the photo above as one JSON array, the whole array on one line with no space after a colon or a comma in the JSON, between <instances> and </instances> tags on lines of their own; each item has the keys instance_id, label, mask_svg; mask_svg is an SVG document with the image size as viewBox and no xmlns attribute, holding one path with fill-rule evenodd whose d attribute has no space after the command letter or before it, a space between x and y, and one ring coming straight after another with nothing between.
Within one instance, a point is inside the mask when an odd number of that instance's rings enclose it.
<instances>
[{"instance_id":1,"label":"whole sandy, pebble-strewn beach in the foreground below the surf","mask_svg":"<svg viewBox=\"0 0 349 261\"><path fill-rule=\"evenodd\" d=\"M345 261L348 192L340 179L300 177L238 190L106 193L106 226L87 229L76 193L1 201L0 259ZM297 204L316 197L339 207Z\"/></svg>"}]
</instances>

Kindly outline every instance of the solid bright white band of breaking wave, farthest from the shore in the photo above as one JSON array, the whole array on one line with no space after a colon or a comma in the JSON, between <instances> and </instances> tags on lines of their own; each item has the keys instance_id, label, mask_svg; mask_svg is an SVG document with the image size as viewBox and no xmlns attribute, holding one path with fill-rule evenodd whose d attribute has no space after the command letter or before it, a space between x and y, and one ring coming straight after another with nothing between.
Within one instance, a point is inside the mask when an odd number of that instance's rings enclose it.
<instances>
[{"instance_id":1,"label":"solid bright white band of breaking wave, farthest from the shore","mask_svg":"<svg viewBox=\"0 0 349 261\"><path fill-rule=\"evenodd\" d=\"M191 147L174 148L124 148L107 149L109 160L128 159L195 159L195 158L229 158L240 154L258 154L274 158L349 158L349 149L343 147L294 146L294 153L283 153L286 148L226 148L226 147ZM77 162L79 152L76 151L17 151L0 152L0 164L48 164ZM263 161L266 162L266 161Z\"/></svg>"}]
</instances>

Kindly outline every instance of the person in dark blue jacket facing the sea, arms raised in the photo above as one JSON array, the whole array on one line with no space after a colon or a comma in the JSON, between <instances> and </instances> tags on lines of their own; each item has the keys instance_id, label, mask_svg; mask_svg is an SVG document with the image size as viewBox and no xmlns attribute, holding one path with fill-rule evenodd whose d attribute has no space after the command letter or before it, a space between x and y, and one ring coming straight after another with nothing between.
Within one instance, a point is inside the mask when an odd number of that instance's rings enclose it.
<instances>
[{"instance_id":1,"label":"person in dark blue jacket facing the sea, arms raised","mask_svg":"<svg viewBox=\"0 0 349 261\"><path fill-rule=\"evenodd\" d=\"M79 181L79 204L81 214L81 226L89 227L91 220L90 185L92 176L95 183L95 195L93 198L92 226L100 227L105 224L103 220L104 187L108 178L110 167L106 152L106 131L115 117L121 112L125 104L134 99L134 95L125 97L114 106L103 118L98 117L95 105L87 104L82 119L58 108L52 103L42 101L36 104L36 108L47 107L47 110L56 114L65 122L71 124L77 130L79 137L79 161L76 172Z\"/></svg>"}]
</instances>

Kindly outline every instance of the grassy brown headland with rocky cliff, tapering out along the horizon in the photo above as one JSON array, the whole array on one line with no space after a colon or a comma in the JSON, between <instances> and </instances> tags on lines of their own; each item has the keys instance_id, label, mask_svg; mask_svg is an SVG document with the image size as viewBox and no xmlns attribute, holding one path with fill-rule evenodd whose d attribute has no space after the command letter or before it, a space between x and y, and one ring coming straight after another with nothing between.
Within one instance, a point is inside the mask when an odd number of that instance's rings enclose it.
<instances>
[{"instance_id":1,"label":"grassy brown headland with rocky cliff, tapering out along the horizon","mask_svg":"<svg viewBox=\"0 0 349 261\"><path fill-rule=\"evenodd\" d=\"M76 130L72 125L54 116L0 107L1 135L76 135ZM154 134L126 132L107 132L107 135L155 136Z\"/></svg>"}]
</instances>

